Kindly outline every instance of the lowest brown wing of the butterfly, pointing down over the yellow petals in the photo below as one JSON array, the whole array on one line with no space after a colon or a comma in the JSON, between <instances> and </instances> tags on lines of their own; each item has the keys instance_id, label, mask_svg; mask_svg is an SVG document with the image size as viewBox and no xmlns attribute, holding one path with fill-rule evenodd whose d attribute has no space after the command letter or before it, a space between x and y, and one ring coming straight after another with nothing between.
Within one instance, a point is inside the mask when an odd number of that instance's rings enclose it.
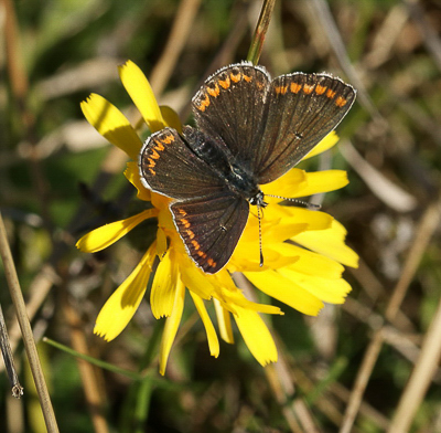
<instances>
[{"instance_id":1,"label":"lowest brown wing of the butterfly, pointing down over the yellow petals","mask_svg":"<svg viewBox=\"0 0 441 433\"><path fill-rule=\"evenodd\" d=\"M170 205L189 255L208 274L229 261L249 215L240 196L222 193Z\"/></svg>"}]
</instances>

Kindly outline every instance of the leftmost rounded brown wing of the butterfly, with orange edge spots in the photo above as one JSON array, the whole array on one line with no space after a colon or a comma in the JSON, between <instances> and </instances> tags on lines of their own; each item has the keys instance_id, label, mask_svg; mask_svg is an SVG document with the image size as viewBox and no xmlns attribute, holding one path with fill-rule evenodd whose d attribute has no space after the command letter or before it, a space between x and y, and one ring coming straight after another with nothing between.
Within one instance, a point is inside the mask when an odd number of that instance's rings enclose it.
<instances>
[{"instance_id":1,"label":"leftmost rounded brown wing of the butterfly, with orange edge spots","mask_svg":"<svg viewBox=\"0 0 441 433\"><path fill-rule=\"evenodd\" d=\"M206 197L226 189L225 181L172 128L148 138L139 156L139 170L147 188L173 199Z\"/></svg>"}]
</instances>

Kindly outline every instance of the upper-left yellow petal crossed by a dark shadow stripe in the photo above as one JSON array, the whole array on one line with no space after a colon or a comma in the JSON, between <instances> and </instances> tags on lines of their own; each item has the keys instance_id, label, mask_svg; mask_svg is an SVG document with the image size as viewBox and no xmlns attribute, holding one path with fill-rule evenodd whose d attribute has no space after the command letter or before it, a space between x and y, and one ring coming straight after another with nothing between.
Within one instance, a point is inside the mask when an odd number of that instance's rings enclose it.
<instances>
[{"instance_id":1,"label":"upper-left yellow petal crossed by a dark shadow stripe","mask_svg":"<svg viewBox=\"0 0 441 433\"><path fill-rule=\"evenodd\" d=\"M137 159L142 142L126 116L103 96L93 93L82 102L87 122L112 145Z\"/></svg>"}]
</instances>

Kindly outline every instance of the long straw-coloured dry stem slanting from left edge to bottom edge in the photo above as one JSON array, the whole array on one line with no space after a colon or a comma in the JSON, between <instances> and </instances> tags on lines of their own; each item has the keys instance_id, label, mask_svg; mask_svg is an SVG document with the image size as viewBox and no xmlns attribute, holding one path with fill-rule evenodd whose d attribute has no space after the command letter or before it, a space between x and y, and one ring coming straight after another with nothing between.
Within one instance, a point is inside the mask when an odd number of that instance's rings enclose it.
<instances>
[{"instance_id":1,"label":"long straw-coloured dry stem slanting from left edge to bottom edge","mask_svg":"<svg viewBox=\"0 0 441 433\"><path fill-rule=\"evenodd\" d=\"M41 368L39 352L36 351L35 341L32 335L31 324L26 316L26 307L24 305L23 294L20 288L19 278L13 263L11 250L8 243L7 231L3 224L3 218L0 212L0 253L4 265L4 274L8 281L9 291L19 319L21 332L23 335L24 348L26 350L29 363L34 378L35 388L39 393L40 404L43 411L44 421L50 433L57 433L58 426L55 420L55 413L52 408L51 397L44 380L43 370Z\"/></svg>"}]
</instances>

